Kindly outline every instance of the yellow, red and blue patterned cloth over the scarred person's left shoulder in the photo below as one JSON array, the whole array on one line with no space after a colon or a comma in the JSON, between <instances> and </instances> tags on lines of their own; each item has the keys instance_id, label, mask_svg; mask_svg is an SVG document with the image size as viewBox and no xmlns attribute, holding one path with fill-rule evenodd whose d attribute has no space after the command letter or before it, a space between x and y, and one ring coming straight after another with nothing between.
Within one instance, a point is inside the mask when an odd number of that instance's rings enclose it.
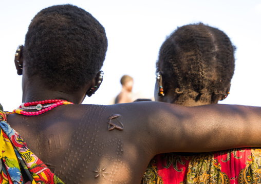
<instances>
[{"instance_id":1,"label":"yellow, red and blue patterned cloth over the scarred person's left shoulder","mask_svg":"<svg viewBox=\"0 0 261 184\"><path fill-rule=\"evenodd\" d=\"M22 137L6 122L8 112L0 109L0 184L64 183L28 148ZM23 173L23 174L22 174Z\"/></svg>"}]
</instances>

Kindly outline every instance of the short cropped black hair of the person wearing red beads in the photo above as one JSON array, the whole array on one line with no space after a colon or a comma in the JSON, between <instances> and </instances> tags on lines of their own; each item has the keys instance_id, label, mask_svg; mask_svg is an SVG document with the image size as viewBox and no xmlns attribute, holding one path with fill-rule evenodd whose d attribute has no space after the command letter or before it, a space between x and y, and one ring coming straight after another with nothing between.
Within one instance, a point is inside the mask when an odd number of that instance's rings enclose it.
<instances>
[{"instance_id":1,"label":"short cropped black hair of the person wearing red beads","mask_svg":"<svg viewBox=\"0 0 261 184\"><path fill-rule=\"evenodd\" d=\"M81 88L101 69L107 51L103 26L90 13L73 5L57 5L34 16L25 37L29 77L43 83Z\"/></svg>"}]
</instances>

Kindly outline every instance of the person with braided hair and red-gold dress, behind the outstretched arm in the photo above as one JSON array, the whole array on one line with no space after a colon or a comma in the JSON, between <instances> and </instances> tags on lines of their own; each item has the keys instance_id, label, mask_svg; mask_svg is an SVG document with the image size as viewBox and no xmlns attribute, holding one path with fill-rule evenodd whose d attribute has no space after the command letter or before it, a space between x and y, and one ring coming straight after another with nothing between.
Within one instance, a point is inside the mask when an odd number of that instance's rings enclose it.
<instances>
[{"instance_id":1,"label":"person with braided hair and red-gold dress, behind the outstretched arm","mask_svg":"<svg viewBox=\"0 0 261 184\"><path fill-rule=\"evenodd\" d=\"M207 107L202 105L225 99L234 74L234 51L219 29L201 23L179 27L160 48L156 101ZM240 134L249 137L249 132ZM208 141L202 139L201 144ZM261 179L260 158L261 149L250 148L159 154L148 165L142 183L256 183Z\"/></svg>"}]
</instances>

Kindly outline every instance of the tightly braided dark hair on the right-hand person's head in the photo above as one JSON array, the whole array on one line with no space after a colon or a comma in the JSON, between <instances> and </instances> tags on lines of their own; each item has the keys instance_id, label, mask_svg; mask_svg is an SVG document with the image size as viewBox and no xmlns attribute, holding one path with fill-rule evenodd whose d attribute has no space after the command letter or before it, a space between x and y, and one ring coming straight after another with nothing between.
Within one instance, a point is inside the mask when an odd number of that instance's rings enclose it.
<instances>
[{"instance_id":1,"label":"tightly braided dark hair on the right-hand person's head","mask_svg":"<svg viewBox=\"0 0 261 184\"><path fill-rule=\"evenodd\" d=\"M234 74L235 47L222 31L203 24L187 25L174 31L160 48L157 71L175 95L209 101L225 95Z\"/></svg>"}]
</instances>

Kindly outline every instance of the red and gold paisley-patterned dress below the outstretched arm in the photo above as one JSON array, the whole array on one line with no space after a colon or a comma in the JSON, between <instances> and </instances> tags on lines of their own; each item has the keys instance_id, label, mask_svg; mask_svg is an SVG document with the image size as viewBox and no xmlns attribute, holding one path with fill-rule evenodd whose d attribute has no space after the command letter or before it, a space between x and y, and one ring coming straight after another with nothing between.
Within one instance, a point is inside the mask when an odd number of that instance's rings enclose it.
<instances>
[{"instance_id":1,"label":"red and gold paisley-patterned dress below the outstretched arm","mask_svg":"<svg viewBox=\"0 0 261 184\"><path fill-rule=\"evenodd\" d=\"M143 184L247 184L261 183L261 149L231 149L193 156L156 155L143 176Z\"/></svg>"}]
</instances>

